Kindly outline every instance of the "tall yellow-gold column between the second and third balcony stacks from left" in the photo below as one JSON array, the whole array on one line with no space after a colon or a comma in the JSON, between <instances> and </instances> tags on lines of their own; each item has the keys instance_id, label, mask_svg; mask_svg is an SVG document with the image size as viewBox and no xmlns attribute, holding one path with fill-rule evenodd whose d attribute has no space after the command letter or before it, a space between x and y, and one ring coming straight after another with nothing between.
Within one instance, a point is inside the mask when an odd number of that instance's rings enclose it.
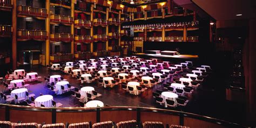
<instances>
[{"instance_id":1,"label":"tall yellow-gold column between the second and third balcony stacks from left","mask_svg":"<svg viewBox=\"0 0 256 128\"><path fill-rule=\"evenodd\" d=\"M50 64L50 0L45 1L45 8L48 14L48 17L46 18L45 27L46 32L48 34L48 37L45 41L45 65Z\"/></svg>"}]
</instances>

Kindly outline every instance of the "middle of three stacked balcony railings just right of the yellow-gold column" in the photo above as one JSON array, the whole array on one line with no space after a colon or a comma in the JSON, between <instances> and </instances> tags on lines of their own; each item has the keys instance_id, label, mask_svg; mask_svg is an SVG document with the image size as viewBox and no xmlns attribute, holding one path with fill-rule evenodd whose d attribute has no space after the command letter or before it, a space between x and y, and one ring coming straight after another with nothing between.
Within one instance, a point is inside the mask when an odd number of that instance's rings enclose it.
<instances>
[{"instance_id":1,"label":"middle of three stacked balcony railings just right of the yellow-gold column","mask_svg":"<svg viewBox=\"0 0 256 128\"><path fill-rule=\"evenodd\" d=\"M71 42L73 35L70 33L51 33L50 40L52 42Z\"/></svg>"}]
</instances>

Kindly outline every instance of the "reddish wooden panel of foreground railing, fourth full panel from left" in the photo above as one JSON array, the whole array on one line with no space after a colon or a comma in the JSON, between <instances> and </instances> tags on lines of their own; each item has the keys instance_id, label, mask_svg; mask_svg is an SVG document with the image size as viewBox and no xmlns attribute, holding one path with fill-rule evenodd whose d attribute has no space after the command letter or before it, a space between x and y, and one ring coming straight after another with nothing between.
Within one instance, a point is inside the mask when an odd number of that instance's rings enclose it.
<instances>
[{"instance_id":1,"label":"reddish wooden panel of foreground railing, fourth full panel from left","mask_svg":"<svg viewBox=\"0 0 256 128\"><path fill-rule=\"evenodd\" d=\"M171 114L163 114L163 113L156 113L156 112L140 112L140 120L142 123L151 121L151 122L163 122L164 125L175 124L179 125L179 116L174 116Z\"/></svg>"}]
</instances>

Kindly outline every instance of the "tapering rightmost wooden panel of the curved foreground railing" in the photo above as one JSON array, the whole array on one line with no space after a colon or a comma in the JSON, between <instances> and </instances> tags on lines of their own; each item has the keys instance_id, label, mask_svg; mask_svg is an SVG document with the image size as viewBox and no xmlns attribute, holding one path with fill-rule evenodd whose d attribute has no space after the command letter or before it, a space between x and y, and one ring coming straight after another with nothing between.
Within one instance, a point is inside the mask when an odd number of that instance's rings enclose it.
<instances>
[{"instance_id":1,"label":"tapering rightmost wooden panel of the curved foreground railing","mask_svg":"<svg viewBox=\"0 0 256 128\"><path fill-rule=\"evenodd\" d=\"M197 128L211 128L211 127L225 128L225 126L221 126L221 125L210 123L210 122L205 122L199 119L188 118L188 117L184 117L184 126L197 127Z\"/></svg>"}]
</instances>

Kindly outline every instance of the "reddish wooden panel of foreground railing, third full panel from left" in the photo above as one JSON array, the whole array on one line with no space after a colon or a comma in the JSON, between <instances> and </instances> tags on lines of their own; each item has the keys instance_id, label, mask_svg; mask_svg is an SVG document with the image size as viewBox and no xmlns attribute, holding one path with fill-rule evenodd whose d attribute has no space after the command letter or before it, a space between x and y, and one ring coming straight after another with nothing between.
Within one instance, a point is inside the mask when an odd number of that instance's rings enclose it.
<instances>
[{"instance_id":1,"label":"reddish wooden panel of foreground railing, third full panel from left","mask_svg":"<svg viewBox=\"0 0 256 128\"><path fill-rule=\"evenodd\" d=\"M101 111L100 112L100 122L106 122L112 120L115 123L137 119L136 111Z\"/></svg>"}]
</instances>

